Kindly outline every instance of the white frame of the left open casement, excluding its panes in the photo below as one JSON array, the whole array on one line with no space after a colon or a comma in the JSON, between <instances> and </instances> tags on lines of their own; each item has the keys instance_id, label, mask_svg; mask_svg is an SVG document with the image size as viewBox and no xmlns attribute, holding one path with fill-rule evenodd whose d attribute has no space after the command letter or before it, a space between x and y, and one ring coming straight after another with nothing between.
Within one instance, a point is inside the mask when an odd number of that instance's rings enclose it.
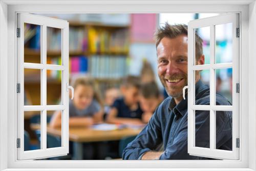
<instances>
[{"instance_id":1,"label":"white frame of the left open casement, excluding its panes","mask_svg":"<svg viewBox=\"0 0 256 171\"><path fill-rule=\"evenodd\" d=\"M24 24L40 26L40 63L24 61ZM61 30L61 65L47 64L47 27ZM17 94L17 138L20 147L17 148L17 159L42 159L54 156L64 156L69 153L69 23L66 20L39 16L35 14L18 13L17 28L20 37L17 38L17 83L20 93ZM40 70L40 105L24 105L24 69ZM47 70L61 71L61 104L47 104ZM24 151L24 112L40 112L40 148ZM61 146L47 148L47 111L61 111Z\"/></svg>"}]
</instances>

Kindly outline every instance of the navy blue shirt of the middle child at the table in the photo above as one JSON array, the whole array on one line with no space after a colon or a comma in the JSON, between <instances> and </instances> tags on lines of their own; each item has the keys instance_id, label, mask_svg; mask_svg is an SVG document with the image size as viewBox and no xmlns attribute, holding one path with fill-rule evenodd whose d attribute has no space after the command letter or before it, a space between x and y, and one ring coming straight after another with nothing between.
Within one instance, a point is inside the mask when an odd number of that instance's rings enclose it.
<instances>
[{"instance_id":1,"label":"navy blue shirt of the middle child at the table","mask_svg":"<svg viewBox=\"0 0 256 171\"><path fill-rule=\"evenodd\" d=\"M129 106L127 106L124 102L124 98L118 98L115 100L112 108L117 109L117 117L120 118L138 118L141 119L141 115L143 111L140 109L140 105L138 103L138 108L136 110L131 110Z\"/></svg>"}]
</instances>

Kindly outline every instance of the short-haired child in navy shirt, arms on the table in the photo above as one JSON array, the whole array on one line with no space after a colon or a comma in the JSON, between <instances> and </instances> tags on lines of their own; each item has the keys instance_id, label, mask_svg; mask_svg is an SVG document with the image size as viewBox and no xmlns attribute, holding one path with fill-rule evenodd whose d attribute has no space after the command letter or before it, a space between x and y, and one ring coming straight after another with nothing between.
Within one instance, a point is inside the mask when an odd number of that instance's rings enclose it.
<instances>
[{"instance_id":1,"label":"short-haired child in navy shirt, arms on the table","mask_svg":"<svg viewBox=\"0 0 256 171\"><path fill-rule=\"evenodd\" d=\"M136 76L124 78L120 90L122 98L118 98L111 106L106 122L116 124L142 125L142 110L139 105L140 79Z\"/></svg>"}]
</instances>

